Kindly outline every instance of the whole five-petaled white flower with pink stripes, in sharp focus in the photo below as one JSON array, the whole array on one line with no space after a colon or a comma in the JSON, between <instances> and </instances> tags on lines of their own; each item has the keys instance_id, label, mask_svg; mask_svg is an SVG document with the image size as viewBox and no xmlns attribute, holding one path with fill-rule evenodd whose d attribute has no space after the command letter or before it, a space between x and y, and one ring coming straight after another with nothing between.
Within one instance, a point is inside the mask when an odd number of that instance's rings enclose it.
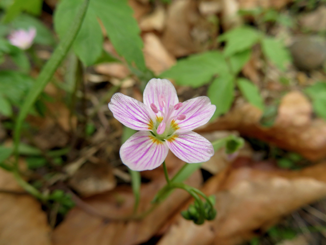
<instances>
[{"instance_id":1,"label":"whole five-petaled white flower with pink stripes, in sharp focus","mask_svg":"<svg viewBox=\"0 0 326 245\"><path fill-rule=\"evenodd\" d=\"M214 154L212 144L193 129L208 122L216 107L206 96L179 103L169 80L151 79L144 91L144 104L115 93L108 108L123 125L140 132L120 149L122 162L132 170L158 167L169 149L188 163L205 162Z\"/></svg>"}]
</instances>

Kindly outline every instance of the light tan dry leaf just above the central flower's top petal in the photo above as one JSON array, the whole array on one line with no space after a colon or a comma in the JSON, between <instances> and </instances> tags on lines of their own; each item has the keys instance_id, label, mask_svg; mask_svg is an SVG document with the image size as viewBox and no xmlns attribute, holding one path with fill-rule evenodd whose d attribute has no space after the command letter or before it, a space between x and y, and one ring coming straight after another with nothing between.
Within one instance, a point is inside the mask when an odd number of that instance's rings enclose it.
<instances>
[{"instance_id":1,"label":"light tan dry leaf just above the central flower's top petal","mask_svg":"<svg viewBox=\"0 0 326 245\"><path fill-rule=\"evenodd\" d=\"M162 45L160 39L153 33L144 35L144 57L148 68L155 75L169 69L176 63L176 59Z\"/></svg>"}]
</instances>

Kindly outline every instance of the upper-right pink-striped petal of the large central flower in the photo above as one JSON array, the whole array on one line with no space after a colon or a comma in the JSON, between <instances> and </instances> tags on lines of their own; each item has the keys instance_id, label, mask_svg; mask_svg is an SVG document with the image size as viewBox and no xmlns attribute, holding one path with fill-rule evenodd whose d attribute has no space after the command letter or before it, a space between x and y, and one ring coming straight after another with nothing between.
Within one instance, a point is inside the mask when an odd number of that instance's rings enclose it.
<instances>
[{"instance_id":1,"label":"upper-right pink-striped petal of the large central flower","mask_svg":"<svg viewBox=\"0 0 326 245\"><path fill-rule=\"evenodd\" d=\"M200 96L182 103L182 107L176 110L173 116L185 115L185 119L177 121L181 130L193 130L205 125L213 116L216 106L210 103L207 96Z\"/></svg>"}]
</instances>

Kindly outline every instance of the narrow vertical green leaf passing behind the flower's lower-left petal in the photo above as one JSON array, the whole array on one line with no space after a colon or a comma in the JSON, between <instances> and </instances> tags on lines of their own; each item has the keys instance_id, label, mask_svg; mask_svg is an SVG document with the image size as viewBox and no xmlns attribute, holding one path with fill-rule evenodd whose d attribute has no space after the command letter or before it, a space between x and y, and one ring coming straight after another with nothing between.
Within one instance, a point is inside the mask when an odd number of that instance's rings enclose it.
<instances>
[{"instance_id":1,"label":"narrow vertical green leaf passing behind the flower's lower-left petal","mask_svg":"<svg viewBox=\"0 0 326 245\"><path fill-rule=\"evenodd\" d=\"M135 132L137 132L137 131L124 126L123 134L121 137L121 143L123 144L124 142L126 142L126 140L128 138L130 138ZM131 176L131 187L132 187L132 192L134 195L133 211L135 213L135 212L137 212L140 197L141 197L141 193L140 193L140 191L141 191L141 174L139 171L134 171L131 169L129 169L129 173Z\"/></svg>"}]
</instances>

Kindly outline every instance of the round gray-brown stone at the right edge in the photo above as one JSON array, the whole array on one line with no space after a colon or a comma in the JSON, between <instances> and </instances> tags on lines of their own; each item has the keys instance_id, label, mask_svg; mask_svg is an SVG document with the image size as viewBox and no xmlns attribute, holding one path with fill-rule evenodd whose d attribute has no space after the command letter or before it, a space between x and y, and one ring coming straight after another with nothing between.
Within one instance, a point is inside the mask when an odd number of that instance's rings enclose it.
<instances>
[{"instance_id":1,"label":"round gray-brown stone at the right edge","mask_svg":"<svg viewBox=\"0 0 326 245\"><path fill-rule=\"evenodd\" d=\"M320 68L326 58L326 44L320 37L297 37L290 47L293 64L301 70Z\"/></svg>"}]
</instances>

